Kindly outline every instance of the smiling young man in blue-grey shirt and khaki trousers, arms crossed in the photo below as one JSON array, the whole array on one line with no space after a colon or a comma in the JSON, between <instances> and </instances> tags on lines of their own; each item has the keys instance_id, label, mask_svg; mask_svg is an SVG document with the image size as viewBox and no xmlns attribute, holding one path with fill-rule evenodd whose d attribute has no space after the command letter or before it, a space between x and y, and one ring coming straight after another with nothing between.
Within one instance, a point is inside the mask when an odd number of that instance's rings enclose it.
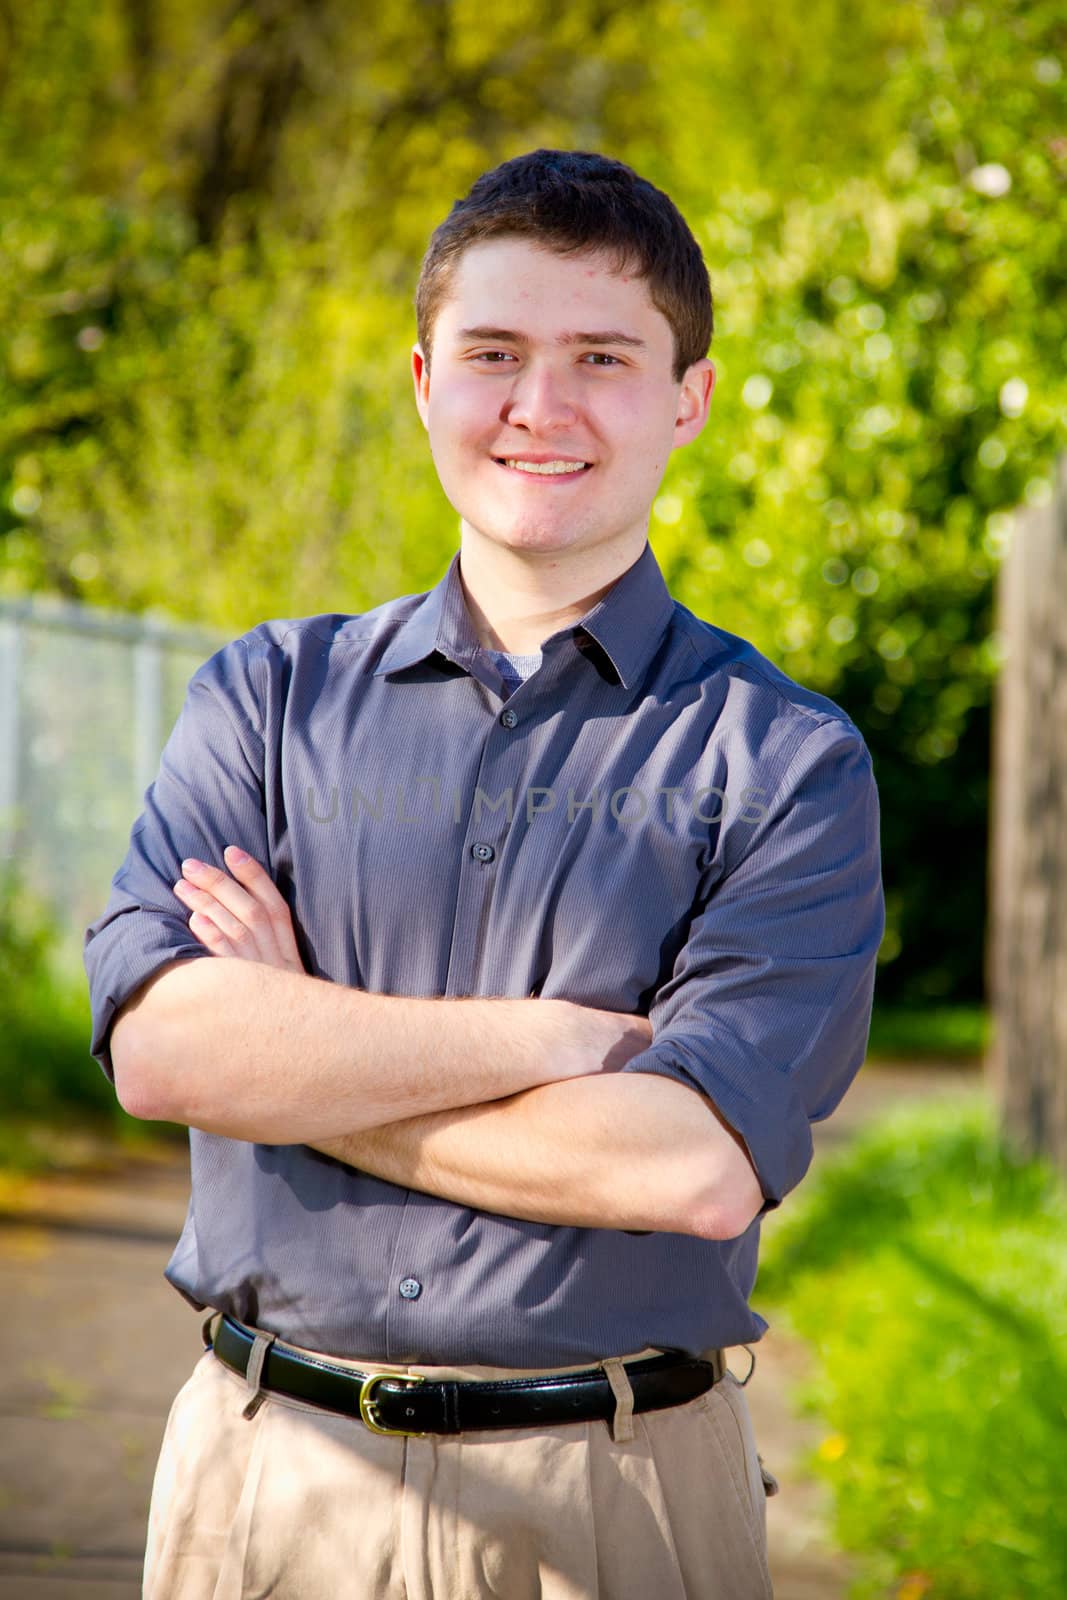
<instances>
[{"instance_id":1,"label":"smiling young man in blue-grey shirt and khaki trousers, arms crossed","mask_svg":"<svg viewBox=\"0 0 1067 1600\"><path fill-rule=\"evenodd\" d=\"M86 936L94 1053L190 1128L166 1275L210 1310L146 1594L763 1597L723 1350L865 1050L870 760L648 544L713 387L664 194L506 162L418 334L459 552L200 669Z\"/></svg>"}]
</instances>

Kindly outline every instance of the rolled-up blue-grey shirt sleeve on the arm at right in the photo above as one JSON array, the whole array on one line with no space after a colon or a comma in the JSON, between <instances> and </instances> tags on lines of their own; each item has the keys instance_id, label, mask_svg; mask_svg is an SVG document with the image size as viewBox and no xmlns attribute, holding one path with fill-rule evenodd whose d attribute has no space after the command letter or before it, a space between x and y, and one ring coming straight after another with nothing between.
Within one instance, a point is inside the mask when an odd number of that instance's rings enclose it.
<instances>
[{"instance_id":1,"label":"rolled-up blue-grey shirt sleeve on the arm at right","mask_svg":"<svg viewBox=\"0 0 1067 1600\"><path fill-rule=\"evenodd\" d=\"M749 1150L760 1216L801 1181L811 1123L862 1066L885 928L878 794L857 730L817 723L771 794L697 906L649 1008L653 1043L624 1069L709 1096Z\"/></svg>"}]
</instances>

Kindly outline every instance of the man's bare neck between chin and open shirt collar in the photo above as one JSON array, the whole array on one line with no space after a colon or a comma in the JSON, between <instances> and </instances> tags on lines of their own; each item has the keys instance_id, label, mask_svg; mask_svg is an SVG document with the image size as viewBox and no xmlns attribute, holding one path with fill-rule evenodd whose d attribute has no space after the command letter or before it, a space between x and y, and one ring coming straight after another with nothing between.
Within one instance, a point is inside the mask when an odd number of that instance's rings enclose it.
<instances>
[{"instance_id":1,"label":"man's bare neck between chin and open shirt collar","mask_svg":"<svg viewBox=\"0 0 1067 1600\"><path fill-rule=\"evenodd\" d=\"M640 557L648 539L592 550L512 550L462 523L459 578L478 640L528 656L581 622Z\"/></svg>"}]
</instances>

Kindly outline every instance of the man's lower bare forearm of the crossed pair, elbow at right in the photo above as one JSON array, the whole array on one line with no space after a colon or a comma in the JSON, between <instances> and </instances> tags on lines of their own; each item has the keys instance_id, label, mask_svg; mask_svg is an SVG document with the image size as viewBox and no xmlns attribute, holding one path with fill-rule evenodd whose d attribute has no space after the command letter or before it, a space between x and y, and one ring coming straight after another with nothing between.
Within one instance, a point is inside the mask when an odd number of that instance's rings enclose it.
<instances>
[{"instance_id":1,"label":"man's lower bare forearm of the crossed pair, elbow at right","mask_svg":"<svg viewBox=\"0 0 1067 1600\"><path fill-rule=\"evenodd\" d=\"M531 1222L733 1238L763 1198L712 1102L651 1074L549 1083L310 1142L408 1189Z\"/></svg>"}]
</instances>

